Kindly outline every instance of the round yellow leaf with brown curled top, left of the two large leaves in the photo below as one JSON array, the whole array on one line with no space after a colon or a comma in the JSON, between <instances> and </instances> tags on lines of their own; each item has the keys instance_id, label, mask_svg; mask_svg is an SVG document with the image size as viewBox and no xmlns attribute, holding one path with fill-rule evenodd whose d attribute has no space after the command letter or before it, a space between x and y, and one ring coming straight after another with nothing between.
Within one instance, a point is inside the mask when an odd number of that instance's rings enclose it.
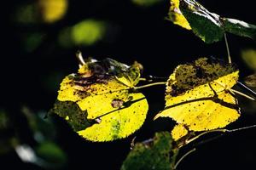
<instances>
[{"instance_id":1,"label":"round yellow leaf with brown curled top, left of the two large leaves","mask_svg":"<svg viewBox=\"0 0 256 170\"><path fill-rule=\"evenodd\" d=\"M73 129L91 141L122 139L143 125L148 102L133 92L140 65L113 59L88 59L77 74L63 79L53 110ZM71 104L71 105L66 105Z\"/></svg>"}]
</instances>

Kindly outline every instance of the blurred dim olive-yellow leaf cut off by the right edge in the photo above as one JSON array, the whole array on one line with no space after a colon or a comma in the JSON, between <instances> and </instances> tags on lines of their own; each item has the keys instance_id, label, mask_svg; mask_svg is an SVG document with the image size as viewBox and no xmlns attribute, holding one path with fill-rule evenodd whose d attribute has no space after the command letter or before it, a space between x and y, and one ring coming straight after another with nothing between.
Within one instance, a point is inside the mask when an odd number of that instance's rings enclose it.
<instances>
[{"instance_id":1,"label":"blurred dim olive-yellow leaf cut off by the right edge","mask_svg":"<svg viewBox=\"0 0 256 170\"><path fill-rule=\"evenodd\" d=\"M247 64L250 69L256 71L256 50L246 49L241 51L241 59Z\"/></svg>"}]
</instances>

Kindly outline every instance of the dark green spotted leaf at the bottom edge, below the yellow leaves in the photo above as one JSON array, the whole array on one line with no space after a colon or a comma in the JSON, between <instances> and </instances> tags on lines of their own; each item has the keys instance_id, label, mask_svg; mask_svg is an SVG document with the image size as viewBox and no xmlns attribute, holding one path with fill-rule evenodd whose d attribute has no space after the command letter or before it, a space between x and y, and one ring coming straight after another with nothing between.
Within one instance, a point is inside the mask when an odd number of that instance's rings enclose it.
<instances>
[{"instance_id":1,"label":"dark green spotted leaf at the bottom edge, below the yellow leaves","mask_svg":"<svg viewBox=\"0 0 256 170\"><path fill-rule=\"evenodd\" d=\"M137 143L126 157L121 170L170 170L172 137L168 132L155 133L150 143Z\"/></svg>"}]
</instances>

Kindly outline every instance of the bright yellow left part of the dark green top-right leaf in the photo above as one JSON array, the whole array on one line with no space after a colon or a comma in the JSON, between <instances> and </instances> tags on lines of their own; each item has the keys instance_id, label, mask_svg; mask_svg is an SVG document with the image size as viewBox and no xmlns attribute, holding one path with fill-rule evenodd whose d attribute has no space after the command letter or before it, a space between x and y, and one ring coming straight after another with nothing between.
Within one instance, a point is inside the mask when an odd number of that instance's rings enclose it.
<instances>
[{"instance_id":1,"label":"bright yellow left part of the dark green top-right leaf","mask_svg":"<svg viewBox=\"0 0 256 170\"><path fill-rule=\"evenodd\" d=\"M171 7L169 9L169 19L178 26L182 26L187 30L191 30L188 20L183 16L179 8L179 0L171 0Z\"/></svg>"}]
</instances>

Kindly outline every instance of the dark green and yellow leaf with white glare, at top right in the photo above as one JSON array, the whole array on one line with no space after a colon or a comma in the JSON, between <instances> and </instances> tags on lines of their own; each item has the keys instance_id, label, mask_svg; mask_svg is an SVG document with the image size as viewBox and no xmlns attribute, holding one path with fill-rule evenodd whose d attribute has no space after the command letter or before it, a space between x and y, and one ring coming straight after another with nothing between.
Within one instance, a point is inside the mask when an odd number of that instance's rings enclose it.
<instances>
[{"instance_id":1,"label":"dark green and yellow leaf with white glare, at top right","mask_svg":"<svg viewBox=\"0 0 256 170\"><path fill-rule=\"evenodd\" d=\"M195 0L171 0L169 19L178 26L192 29L196 36L207 43L222 40L225 31L241 37L256 38L256 26L241 20L220 17Z\"/></svg>"}]
</instances>

